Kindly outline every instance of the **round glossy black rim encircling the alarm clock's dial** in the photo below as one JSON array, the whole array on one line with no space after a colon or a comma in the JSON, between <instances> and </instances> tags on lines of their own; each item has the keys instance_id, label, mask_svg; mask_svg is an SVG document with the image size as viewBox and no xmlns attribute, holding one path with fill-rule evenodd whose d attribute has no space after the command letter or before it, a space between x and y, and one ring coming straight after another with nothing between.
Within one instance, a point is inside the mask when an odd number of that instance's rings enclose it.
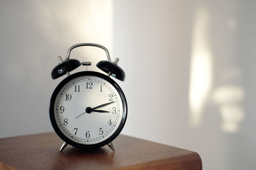
<instances>
[{"instance_id":1,"label":"round glossy black rim encircling the alarm clock's dial","mask_svg":"<svg viewBox=\"0 0 256 170\"><path fill-rule=\"evenodd\" d=\"M115 87L115 89L118 91L118 94L120 94L120 97L122 99L122 104L124 106L124 110L123 110L123 115L122 115L122 120L120 122L120 125L118 126L118 129L116 129L116 131L106 140L100 142L100 143L96 143L96 144L92 144L92 145L86 145L86 144L81 144L81 143L76 143L75 141L72 141L71 139L68 139L59 129L57 122L54 118L54 103L56 101L56 97L58 95L58 92L60 92L61 88L68 83L68 81L77 78L79 76L98 76L100 78L103 78L104 80L108 81L109 83L111 83L111 85L113 85ZM50 99L50 103L49 103L49 117L51 120L51 124L52 127L54 129L54 131L56 132L56 134L58 134L58 136L65 141L66 143L68 143L69 145L75 146L77 148L99 148L101 146L104 145L108 145L108 143L110 143L111 141L113 141L118 134L120 134L120 132L122 131L122 129L124 128L126 119L127 119L127 101L125 99L125 95L124 92L122 91L122 89L119 87L119 85L112 80L111 78L109 78L108 76L106 76L105 74L99 73L99 72L95 72L95 71L81 71L78 73L74 73L71 74L70 76L68 76L67 78L65 78L64 80L62 80L58 86L56 87L56 89L54 89L54 92L52 92L52 96Z\"/></svg>"}]
</instances>

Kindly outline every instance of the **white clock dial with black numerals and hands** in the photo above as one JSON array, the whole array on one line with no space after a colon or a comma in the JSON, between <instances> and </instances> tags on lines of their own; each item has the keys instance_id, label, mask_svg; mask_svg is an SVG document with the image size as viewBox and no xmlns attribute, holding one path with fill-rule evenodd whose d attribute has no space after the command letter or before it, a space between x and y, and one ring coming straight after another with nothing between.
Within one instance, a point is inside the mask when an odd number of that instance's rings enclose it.
<instances>
[{"instance_id":1,"label":"white clock dial with black numerals and hands","mask_svg":"<svg viewBox=\"0 0 256 170\"><path fill-rule=\"evenodd\" d=\"M81 145L101 143L124 124L123 100L115 86L104 78L78 76L56 94L54 124L70 141Z\"/></svg>"}]
</instances>

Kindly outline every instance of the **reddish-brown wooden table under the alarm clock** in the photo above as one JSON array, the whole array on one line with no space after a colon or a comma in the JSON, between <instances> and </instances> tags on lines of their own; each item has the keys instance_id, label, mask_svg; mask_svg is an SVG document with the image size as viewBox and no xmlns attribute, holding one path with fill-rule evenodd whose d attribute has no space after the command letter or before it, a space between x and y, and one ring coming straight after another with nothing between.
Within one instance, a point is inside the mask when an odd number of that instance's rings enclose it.
<instances>
[{"instance_id":1,"label":"reddish-brown wooden table under the alarm clock","mask_svg":"<svg viewBox=\"0 0 256 170\"><path fill-rule=\"evenodd\" d=\"M202 169L196 152L120 135L108 146L81 150L54 133L0 139L0 169Z\"/></svg>"}]
</instances>

